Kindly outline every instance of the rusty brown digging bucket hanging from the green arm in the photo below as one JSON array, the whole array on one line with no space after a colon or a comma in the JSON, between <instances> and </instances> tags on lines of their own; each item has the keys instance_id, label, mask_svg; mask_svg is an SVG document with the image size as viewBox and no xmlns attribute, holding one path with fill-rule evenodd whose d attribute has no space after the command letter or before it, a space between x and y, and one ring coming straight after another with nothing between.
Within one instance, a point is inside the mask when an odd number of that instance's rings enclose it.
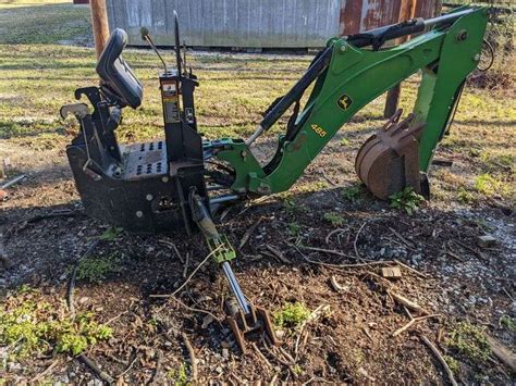
<instances>
[{"instance_id":1,"label":"rusty brown digging bucket hanging from the green arm","mask_svg":"<svg viewBox=\"0 0 516 386\"><path fill-rule=\"evenodd\" d=\"M401 115L398 110L369 137L355 161L358 177L381 200L405 187L422 192L418 148L425 123L415 123L414 114L400 122Z\"/></svg>"}]
</instances>

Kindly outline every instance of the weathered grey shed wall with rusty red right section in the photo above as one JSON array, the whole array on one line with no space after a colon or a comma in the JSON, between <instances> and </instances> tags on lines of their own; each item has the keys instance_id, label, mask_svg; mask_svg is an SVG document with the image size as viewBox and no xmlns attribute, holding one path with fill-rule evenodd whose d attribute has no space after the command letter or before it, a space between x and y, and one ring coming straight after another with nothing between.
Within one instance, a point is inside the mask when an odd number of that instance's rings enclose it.
<instances>
[{"instance_id":1,"label":"weathered grey shed wall with rusty red right section","mask_svg":"<svg viewBox=\"0 0 516 386\"><path fill-rule=\"evenodd\" d=\"M413 2L416 2L417 4ZM144 45L139 28L173 45L173 10L188 46L317 48L333 36L396 23L403 7L433 15L440 0L107 0L110 27Z\"/></svg>"}]
</instances>

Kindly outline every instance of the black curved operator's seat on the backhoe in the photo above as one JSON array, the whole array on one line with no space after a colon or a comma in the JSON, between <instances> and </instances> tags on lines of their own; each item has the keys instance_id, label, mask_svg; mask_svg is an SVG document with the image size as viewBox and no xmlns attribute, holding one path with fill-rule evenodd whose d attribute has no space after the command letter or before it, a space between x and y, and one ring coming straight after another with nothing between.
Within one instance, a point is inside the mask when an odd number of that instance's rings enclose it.
<instances>
[{"instance_id":1,"label":"black curved operator's seat on the backhoe","mask_svg":"<svg viewBox=\"0 0 516 386\"><path fill-rule=\"evenodd\" d=\"M136 109L142 104L144 87L131 67L122 59L122 51L127 45L127 33L116 28L111 34L97 64L97 74L102 79L102 88L109 99L121 108L131 105Z\"/></svg>"}]
</instances>

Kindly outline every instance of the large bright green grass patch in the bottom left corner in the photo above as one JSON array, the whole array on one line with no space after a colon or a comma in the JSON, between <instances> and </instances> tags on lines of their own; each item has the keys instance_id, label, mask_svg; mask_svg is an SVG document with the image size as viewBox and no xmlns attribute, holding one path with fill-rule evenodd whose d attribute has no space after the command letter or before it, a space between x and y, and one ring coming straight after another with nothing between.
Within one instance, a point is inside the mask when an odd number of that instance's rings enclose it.
<instances>
[{"instance_id":1,"label":"large bright green grass patch in the bottom left corner","mask_svg":"<svg viewBox=\"0 0 516 386\"><path fill-rule=\"evenodd\" d=\"M95 321L93 313L75 319L42 300L37 291L7 298L0 311L0 345L12 347L11 359L56 350L77 356L113 332Z\"/></svg>"}]
</instances>

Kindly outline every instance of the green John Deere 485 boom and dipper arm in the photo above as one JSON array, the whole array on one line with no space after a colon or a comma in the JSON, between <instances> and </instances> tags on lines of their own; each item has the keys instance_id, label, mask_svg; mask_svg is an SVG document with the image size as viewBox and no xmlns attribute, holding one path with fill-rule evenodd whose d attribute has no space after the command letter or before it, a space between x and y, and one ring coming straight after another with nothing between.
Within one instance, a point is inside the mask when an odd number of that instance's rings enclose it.
<instances>
[{"instance_id":1,"label":"green John Deere 485 boom and dipper arm","mask_svg":"<svg viewBox=\"0 0 516 386\"><path fill-rule=\"evenodd\" d=\"M288 189L360 109L418 71L422 71L422 80L414 112L418 122L426 123L419 169L427 172L450 120L455 92L478 63L487 21L487 9L477 9L451 27L380 51L331 39L330 65L316 80L297 119L298 124L303 123L300 128L290 141L280 137L277 155L266 169L242 140L233 140L216 153L236 172L232 189L260 195Z\"/></svg>"}]
</instances>

